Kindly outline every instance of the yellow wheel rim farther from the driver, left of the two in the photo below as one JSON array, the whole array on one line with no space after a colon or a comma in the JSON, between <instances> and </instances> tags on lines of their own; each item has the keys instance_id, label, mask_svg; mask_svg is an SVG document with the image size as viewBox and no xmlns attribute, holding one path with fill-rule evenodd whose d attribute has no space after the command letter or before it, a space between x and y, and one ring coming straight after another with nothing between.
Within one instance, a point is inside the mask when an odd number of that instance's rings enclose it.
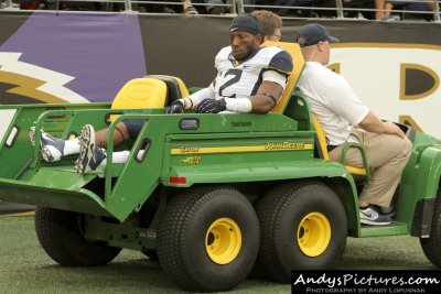
<instances>
[{"instance_id":1,"label":"yellow wheel rim farther from the driver, left of the two","mask_svg":"<svg viewBox=\"0 0 441 294\"><path fill-rule=\"evenodd\" d=\"M241 232L233 219L219 218L209 226L205 236L205 250L214 262L232 262L239 253L240 246Z\"/></svg>"}]
</instances>

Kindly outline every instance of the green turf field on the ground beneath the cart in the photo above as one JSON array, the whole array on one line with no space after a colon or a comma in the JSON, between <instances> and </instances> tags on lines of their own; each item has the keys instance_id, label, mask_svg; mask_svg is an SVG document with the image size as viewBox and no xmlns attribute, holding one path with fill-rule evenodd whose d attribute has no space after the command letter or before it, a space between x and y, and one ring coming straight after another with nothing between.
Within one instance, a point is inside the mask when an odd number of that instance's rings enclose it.
<instances>
[{"instance_id":1,"label":"green turf field on the ground beneath the cart","mask_svg":"<svg viewBox=\"0 0 441 294\"><path fill-rule=\"evenodd\" d=\"M159 264L122 250L103 268L63 268L40 247L32 217L0 217L0 293L182 293ZM347 240L338 269L435 269L407 236ZM290 285L249 277L229 293L290 293Z\"/></svg>"}]
</instances>

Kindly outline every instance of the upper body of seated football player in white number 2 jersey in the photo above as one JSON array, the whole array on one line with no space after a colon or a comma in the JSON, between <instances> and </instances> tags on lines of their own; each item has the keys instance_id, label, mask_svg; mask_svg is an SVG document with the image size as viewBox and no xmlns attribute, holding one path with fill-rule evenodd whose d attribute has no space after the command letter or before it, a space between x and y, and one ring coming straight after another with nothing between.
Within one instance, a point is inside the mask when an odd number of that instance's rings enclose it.
<instances>
[{"instance_id":1,"label":"upper body of seated football player in white number 2 jersey","mask_svg":"<svg viewBox=\"0 0 441 294\"><path fill-rule=\"evenodd\" d=\"M288 52L277 46L261 47L258 20L239 14L229 26L229 43L217 53L217 76L204 89L173 102L169 113L195 109L198 113L267 113L279 101L293 64Z\"/></svg>"}]
</instances>

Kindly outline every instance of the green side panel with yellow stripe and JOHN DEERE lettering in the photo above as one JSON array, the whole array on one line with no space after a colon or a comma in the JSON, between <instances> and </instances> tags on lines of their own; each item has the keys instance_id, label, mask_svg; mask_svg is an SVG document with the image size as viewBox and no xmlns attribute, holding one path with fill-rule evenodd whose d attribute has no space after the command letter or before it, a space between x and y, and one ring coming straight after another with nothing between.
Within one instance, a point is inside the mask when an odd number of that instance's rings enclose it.
<instances>
[{"instance_id":1,"label":"green side panel with yellow stripe and JOHN DEERE lettering","mask_svg":"<svg viewBox=\"0 0 441 294\"><path fill-rule=\"evenodd\" d=\"M169 137L171 166L212 166L251 163L261 166L313 157L312 132L248 132L239 137ZM170 151L169 151L170 150Z\"/></svg>"}]
</instances>

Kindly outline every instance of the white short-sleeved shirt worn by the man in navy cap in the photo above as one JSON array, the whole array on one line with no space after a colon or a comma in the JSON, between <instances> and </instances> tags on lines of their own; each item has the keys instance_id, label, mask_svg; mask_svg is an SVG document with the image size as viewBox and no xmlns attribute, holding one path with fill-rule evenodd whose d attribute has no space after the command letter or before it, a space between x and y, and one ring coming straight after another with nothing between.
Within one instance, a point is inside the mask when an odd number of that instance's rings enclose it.
<instances>
[{"instance_id":1,"label":"white short-sleeved shirt worn by the man in navy cap","mask_svg":"<svg viewBox=\"0 0 441 294\"><path fill-rule=\"evenodd\" d=\"M345 143L351 126L357 126L369 112L346 79L320 63L305 64L297 87L309 98L330 145Z\"/></svg>"}]
</instances>

